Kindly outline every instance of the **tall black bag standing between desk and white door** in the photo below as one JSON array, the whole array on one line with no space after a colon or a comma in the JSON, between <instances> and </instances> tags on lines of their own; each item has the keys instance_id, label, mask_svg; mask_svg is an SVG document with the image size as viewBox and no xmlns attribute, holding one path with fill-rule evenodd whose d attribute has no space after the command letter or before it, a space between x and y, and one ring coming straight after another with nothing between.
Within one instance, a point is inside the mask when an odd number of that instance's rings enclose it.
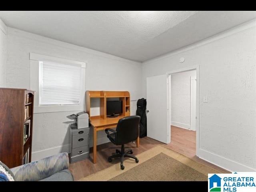
<instances>
[{"instance_id":1,"label":"tall black bag standing between desk and white door","mask_svg":"<svg viewBox=\"0 0 256 192\"><path fill-rule=\"evenodd\" d=\"M137 101L136 115L140 116L140 138L147 136L146 106L146 99L141 98Z\"/></svg>"}]
</instances>

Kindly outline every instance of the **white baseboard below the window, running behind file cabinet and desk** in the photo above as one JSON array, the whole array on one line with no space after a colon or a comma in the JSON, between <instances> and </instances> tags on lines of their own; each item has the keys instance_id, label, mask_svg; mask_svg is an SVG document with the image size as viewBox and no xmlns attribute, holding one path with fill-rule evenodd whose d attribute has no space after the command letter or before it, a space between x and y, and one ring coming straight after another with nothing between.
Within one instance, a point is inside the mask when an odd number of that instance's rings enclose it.
<instances>
[{"instance_id":1,"label":"white baseboard below the window, running behind file cabinet and desk","mask_svg":"<svg viewBox=\"0 0 256 192\"><path fill-rule=\"evenodd\" d=\"M99 137L97 138L97 145L108 143L110 140L107 137ZM90 140L90 147L93 146L93 140ZM62 146L57 146L53 148L48 148L36 152L32 152L31 161L40 160L52 155L56 155L58 153L67 152L70 153L70 144L65 144Z\"/></svg>"}]
</instances>

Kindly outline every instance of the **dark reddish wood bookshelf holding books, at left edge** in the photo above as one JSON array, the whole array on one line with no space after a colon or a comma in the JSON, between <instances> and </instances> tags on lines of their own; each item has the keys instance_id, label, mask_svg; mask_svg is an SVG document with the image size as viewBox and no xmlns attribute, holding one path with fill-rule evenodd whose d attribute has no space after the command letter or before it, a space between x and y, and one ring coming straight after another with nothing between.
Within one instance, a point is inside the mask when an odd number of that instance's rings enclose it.
<instances>
[{"instance_id":1,"label":"dark reddish wood bookshelf holding books, at left edge","mask_svg":"<svg viewBox=\"0 0 256 192\"><path fill-rule=\"evenodd\" d=\"M33 107L34 91L0 88L0 160L9 168L31 162Z\"/></svg>"}]
</instances>

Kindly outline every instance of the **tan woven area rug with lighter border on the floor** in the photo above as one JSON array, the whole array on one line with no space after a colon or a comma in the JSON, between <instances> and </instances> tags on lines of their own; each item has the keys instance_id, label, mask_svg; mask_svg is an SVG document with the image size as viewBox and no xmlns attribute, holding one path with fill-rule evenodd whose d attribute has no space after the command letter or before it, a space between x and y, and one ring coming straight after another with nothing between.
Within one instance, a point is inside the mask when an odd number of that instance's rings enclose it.
<instances>
[{"instance_id":1,"label":"tan woven area rug with lighter border on the floor","mask_svg":"<svg viewBox=\"0 0 256 192\"><path fill-rule=\"evenodd\" d=\"M124 170L118 163L80 181L207 181L208 173L220 173L161 145L137 157L138 164L132 159L125 160Z\"/></svg>"}]
</instances>

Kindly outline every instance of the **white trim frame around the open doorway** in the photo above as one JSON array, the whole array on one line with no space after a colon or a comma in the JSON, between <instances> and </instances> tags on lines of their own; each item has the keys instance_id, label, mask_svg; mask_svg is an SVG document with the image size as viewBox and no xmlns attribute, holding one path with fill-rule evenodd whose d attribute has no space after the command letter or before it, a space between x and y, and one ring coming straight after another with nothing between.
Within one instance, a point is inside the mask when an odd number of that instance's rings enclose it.
<instances>
[{"instance_id":1,"label":"white trim frame around the open doorway","mask_svg":"<svg viewBox=\"0 0 256 192\"><path fill-rule=\"evenodd\" d=\"M191 66L187 68L180 68L176 70L172 70L167 72L168 76L168 81L167 81L167 119L168 119L168 132L167 135L168 137L168 143L171 142L171 116L172 116L172 111L171 111L171 75L179 72L185 72L185 71L190 71L190 70L196 70L196 156L198 156L198 150L199 150L199 136L200 136L200 116L199 116L199 82L200 82L200 77L199 77L199 65L196 66Z\"/></svg>"}]
</instances>

